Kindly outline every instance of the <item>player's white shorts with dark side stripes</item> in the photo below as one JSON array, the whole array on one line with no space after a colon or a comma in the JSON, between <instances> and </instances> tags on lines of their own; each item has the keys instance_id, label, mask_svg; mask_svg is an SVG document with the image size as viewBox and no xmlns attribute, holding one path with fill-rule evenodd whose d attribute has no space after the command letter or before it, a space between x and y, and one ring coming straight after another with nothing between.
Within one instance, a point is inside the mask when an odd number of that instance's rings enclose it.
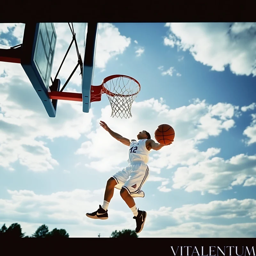
<instances>
[{"instance_id":1,"label":"player's white shorts with dark side stripes","mask_svg":"<svg viewBox=\"0 0 256 256\"><path fill-rule=\"evenodd\" d=\"M115 188L125 188L132 197L144 197L141 187L147 181L148 174L148 165L138 161L130 163L112 177L117 182Z\"/></svg>"}]
</instances>

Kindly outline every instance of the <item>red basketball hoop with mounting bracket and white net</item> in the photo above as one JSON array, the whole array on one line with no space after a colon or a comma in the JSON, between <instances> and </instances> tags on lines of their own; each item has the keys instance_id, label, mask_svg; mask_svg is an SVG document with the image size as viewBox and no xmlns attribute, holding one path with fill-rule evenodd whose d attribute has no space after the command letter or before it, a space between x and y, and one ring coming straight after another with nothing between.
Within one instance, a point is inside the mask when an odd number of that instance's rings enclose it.
<instances>
[{"instance_id":1,"label":"red basketball hoop with mounting bracket and white net","mask_svg":"<svg viewBox=\"0 0 256 256\"><path fill-rule=\"evenodd\" d=\"M111 116L129 118L132 116L132 102L140 92L140 83L131 76L112 75L103 79L102 84L91 86L91 102L101 100L106 93L112 108Z\"/></svg>"}]
</instances>

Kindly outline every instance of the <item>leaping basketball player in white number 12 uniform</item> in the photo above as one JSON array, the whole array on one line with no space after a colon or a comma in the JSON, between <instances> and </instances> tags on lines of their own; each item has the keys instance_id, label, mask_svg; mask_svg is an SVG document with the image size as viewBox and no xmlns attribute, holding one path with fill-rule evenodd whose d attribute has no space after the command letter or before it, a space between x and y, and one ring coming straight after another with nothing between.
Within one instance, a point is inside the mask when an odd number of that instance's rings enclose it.
<instances>
[{"instance_id":1,"label":"leaping basketball player in white number 12 uniform","mask_svg":"<svg viewBox=\"0 0 256 256\"><path fill-rule=\"evenodd\" d=\"M159 150L165 145L151 140L150 134L147 131L139 132L137 135L138 140L128 140L122 137L120 134L110 130L108 125L103 121L100 121L100 126L109 132L109 134L116 140L119 140L124 145L129 147L129 165L122 171L116 172L116 174L108 179L103 205L100 205L100 208L95 212L86 213L86 216L92 219L108 219L108 204L113 197L114 188L118 188L121 189L121 197L134 214L133 219L136 220L135 232L140 233L144 226L147 212L141 211L139 208L137 210L133 197L144 197L144 192L141 190L141 187L148 179L149 168L146 164L149 158L149 150ZM172 142L170 144L172 144Z\"/></svg>"}]
</instances>

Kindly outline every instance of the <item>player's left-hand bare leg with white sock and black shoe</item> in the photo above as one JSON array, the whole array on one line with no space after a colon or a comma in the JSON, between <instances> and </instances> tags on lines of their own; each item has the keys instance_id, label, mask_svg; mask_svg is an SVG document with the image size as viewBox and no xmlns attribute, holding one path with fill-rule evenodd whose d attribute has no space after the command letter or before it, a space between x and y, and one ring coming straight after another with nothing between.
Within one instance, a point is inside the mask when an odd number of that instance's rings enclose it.
<instances>
[{"instance_id":1,"label":"player's left-hand bare leg with white sock and black shoe","mask_svg":"<svg viewBox=\"0 0 256 256\"><path fill-rule=\"evenodd\" d=\"M100 205L100 208L91 213L86 213L86 216L91 218L91 219L100 219L100 220L107 220L108 219L108 210L107 206L113 197L114 194L114 188L116 186L116 180L114 178L109 178L107 181L106 189L105 189L105 195L104 195L104 202L103 202L103 207L106 206L106 210L102 208ZM105 205L106 204L106 205Z\"/></svg>"}]
</instances>

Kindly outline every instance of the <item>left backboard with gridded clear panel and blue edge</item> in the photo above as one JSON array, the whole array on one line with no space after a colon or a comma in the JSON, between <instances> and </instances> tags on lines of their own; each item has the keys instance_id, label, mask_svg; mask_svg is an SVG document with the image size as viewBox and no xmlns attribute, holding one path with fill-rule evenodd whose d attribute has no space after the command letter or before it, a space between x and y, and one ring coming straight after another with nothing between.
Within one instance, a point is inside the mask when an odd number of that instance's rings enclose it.
<instances>
[{"instance_id":1,"label":"left backboard with gridded clear panel and blue edge","mask_svg":"<svg viewBox=\"0 0 256 256\"><path fill-rule=\"evenodd\" d=\"M56 101L48 95L56 40L53 23L25 24L20 63L50 117L56 116Z\"/></svg>"}]
</instances>

